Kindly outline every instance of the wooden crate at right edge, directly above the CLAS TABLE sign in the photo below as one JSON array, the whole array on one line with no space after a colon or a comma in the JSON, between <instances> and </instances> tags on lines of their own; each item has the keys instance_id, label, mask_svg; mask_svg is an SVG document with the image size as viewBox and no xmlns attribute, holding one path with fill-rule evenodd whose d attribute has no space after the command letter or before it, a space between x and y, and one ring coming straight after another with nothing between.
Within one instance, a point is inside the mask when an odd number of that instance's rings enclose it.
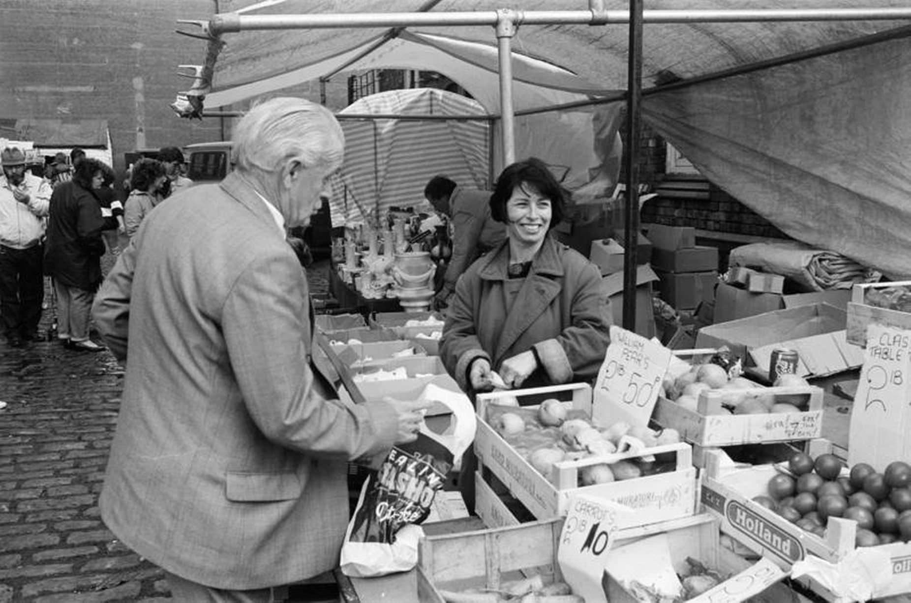
<instances>
[{"instance_id":1,"label":"wooden crate at right edge, directly above the CLAS TABLE sign","mask_svg":"<svg viewBox=\"0 0 911 603\"><path fill-rule=\"evenodd\" d=\"M848 342L866 347L871 323L911 330L911 281L854 286L848 302Z\"/></svg>"}]
</instances>

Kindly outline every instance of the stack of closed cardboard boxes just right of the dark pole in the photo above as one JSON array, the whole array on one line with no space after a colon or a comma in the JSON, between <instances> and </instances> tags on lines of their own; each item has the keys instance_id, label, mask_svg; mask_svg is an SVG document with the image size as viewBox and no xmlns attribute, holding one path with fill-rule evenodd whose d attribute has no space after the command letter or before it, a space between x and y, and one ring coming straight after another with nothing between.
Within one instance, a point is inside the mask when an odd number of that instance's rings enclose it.
<instances>
[{"instance_id":1,"label":"stack of closed cardboard boxes just right of the dark pole","mask_svg":"<svg viewBox=\"0 0 911 603\"><path fill-rule=\"evenodd\" d=\"M678 310L693 310L702 299L711 299L718 282L718 248L696 245L690 226L649 228L653 246L651 266L660 278L664 301Z\"/></svg>"}]
</instances>

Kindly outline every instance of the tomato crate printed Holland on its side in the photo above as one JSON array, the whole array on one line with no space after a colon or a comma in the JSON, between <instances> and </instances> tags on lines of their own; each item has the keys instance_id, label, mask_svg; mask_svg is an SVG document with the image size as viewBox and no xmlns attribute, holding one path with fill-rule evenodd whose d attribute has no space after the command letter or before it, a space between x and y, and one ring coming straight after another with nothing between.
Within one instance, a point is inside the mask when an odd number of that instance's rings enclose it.
<instances>
[{"instance_id":1,"label":"tomato crate printed Holland on its side","mask_svg":"<svg viewBox=\"0 0 911 603\"><path fill-rule=\"evenodd\" d=\"M776 474L773 465L725 470L719 451L712 451L708 456L701 487L703 508L720 519L722 532L745 547L772 559L784 569L790 569L794 562L808 556L835 564L855 551L855 521L830 518L825 538L822 538L752 500L752 497L767 494L769 479ZM887 587L875 590L876 598L911 592L911 544L896 542L859 549L857 553L863 555L864 550L885 552L889 558L886 563L893 579ZM833 603L851 600L829 591L814 579L798 578L798 581Z\"/></svg>"}]
</instances>

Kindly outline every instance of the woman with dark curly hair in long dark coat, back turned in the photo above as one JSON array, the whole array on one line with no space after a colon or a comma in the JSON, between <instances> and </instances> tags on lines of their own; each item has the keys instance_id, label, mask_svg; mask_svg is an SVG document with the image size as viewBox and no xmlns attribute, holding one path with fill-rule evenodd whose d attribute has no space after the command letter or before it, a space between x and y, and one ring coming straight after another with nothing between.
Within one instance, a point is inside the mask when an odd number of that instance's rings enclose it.
<instances>
[{"instance_id":1,"label":"woman with dark curly hair in long dark coat, back turned","mask_svg":"<svg viewBox=\"0 0 911 603\"><path fill-rule=\"evenodd\" d=\"M104 167L97 159L80 161L73 179L54 189L47 220L45 273L54 279L57 338L70 349L86 352L105 349L88 338L105 254L105 219L95 192L104 180Z\"/></svg>"}]
</instances>

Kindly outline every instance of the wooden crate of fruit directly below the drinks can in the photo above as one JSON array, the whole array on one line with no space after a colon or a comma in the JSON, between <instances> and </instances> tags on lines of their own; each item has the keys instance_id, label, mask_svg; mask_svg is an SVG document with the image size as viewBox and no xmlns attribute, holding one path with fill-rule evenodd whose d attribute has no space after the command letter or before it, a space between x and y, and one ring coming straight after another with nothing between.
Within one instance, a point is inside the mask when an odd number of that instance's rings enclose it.
<instances>
[{"instance_id":1,"label":"wooden crate of fruit directly below the drinks can","mask_svg":"<svg viewBox=\"0 0 911 603\"><path fill-rule=\"evenodd\" d=\"M761 415L717 414L728 397L806 395L809 408L803 412ZM703 390L695 411L660 397L652 419L661 427L677 429L687 442L701 447L792 442L820 437L823 432L823 390L819 387L759 387L746 390Z\"/></svg>"}]
</instances>

